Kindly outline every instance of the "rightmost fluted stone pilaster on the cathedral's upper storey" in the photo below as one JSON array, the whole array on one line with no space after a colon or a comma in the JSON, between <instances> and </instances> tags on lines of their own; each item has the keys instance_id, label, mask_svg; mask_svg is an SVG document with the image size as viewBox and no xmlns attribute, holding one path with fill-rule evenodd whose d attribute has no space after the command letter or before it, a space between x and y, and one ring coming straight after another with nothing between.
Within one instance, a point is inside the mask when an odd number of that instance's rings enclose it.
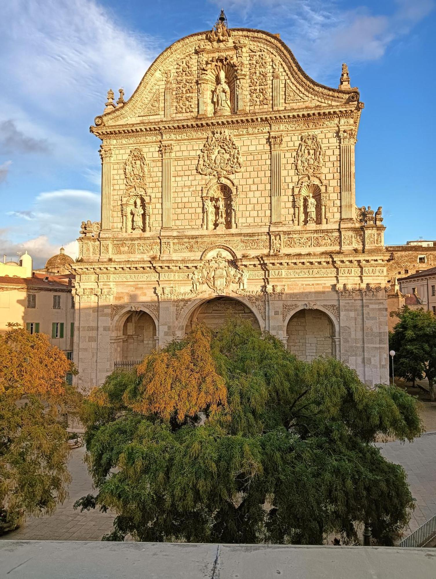
<instances>
[{"instance_id":1,"label":"rightmost fluted stone pilaster on the cathedral's upper storey","mask_svg":"<svg viewBox=\"0 0 436 579\"><path fill-rule=\"evenodd\" d=\"M356 205L354 164L355 130L340 130L339 141L341 221L354 221Z\"/></svg>"}]
</instances>

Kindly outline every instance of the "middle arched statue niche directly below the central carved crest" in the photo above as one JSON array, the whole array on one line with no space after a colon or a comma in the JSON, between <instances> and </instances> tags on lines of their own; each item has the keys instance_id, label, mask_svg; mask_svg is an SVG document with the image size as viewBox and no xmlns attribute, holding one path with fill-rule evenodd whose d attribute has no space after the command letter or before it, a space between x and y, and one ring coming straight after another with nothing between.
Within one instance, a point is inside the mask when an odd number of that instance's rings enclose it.
<instances>
[{"instance_id":1,"label":"middle arched statue niche directly below the central carved crest","mask_svg":"<svg viewBox=\"0 0 436 579\"><path fill-rule=\"evenodd\" d=\"M220 149L216 152L219 156ZM236 229L237 221L237 200L238 188L231 179L213 179L202 190L203 201L203 229Z\"/></svg>"}]
</instances>

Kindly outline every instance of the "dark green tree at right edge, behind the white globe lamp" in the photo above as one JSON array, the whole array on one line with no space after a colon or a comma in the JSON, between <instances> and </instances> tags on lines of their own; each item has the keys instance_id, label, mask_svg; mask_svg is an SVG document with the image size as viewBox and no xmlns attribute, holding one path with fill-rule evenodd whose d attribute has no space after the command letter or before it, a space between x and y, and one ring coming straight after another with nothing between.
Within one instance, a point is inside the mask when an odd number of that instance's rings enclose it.
<instances>
[{"instance_id":1,"label":"dark green tree at right edge, behind the white globe lamp","mask_svg":"<svg viewBox=\"0 0 436 579\"><path fill-rule=\"evenodd\" d=\"M430 400L434 401L436 379L436 316L419 308L403 306L391 312L399 321L390 334L390 348L395 351L394 372L410 382L427 378Z\"/></svg>"}]
</instances>

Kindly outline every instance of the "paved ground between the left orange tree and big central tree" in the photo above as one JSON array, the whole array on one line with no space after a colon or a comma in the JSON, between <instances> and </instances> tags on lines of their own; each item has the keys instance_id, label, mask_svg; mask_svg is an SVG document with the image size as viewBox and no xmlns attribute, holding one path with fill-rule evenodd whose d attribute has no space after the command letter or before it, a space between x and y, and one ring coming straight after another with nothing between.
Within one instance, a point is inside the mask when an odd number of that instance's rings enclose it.
<instances>
[{"instance_id":1,"label":"paved ground between the left orange tree and big central tree","mask_svg":"<svg viewBox=\"0 0 436 579\"><path fill-rule=\"evenodd\" d=\"M99 509L74 511L72 505L85 494L93 492L88 468L83 463L84 448L76 448L68 463L72 482L68 488L70 496L57 507L52 516L28 517L16 531L3 535L2 539L31 539L50 541L100 541L112 530L115 514L100 512Z\"/></svg>"}]
</instances>

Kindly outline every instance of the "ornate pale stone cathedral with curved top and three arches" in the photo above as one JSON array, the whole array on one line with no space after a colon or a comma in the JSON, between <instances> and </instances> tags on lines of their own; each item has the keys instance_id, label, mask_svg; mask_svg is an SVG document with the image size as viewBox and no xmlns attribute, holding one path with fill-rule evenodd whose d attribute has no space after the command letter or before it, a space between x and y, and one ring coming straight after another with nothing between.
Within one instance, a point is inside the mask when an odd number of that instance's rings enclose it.
<instances>
[{"instance_id":1,"label":"ornate pale stone cathedral with curved top and three arches","mask_svg":"<svg viewBox=\"0 0 436 579\"><path fill-rule=\"evenodd\" d=\"M221 13L114 100L90 129L101 222L82 222L73 266L78 383L229 312L386 383L388 255L381 207L355 204L364 105L347 66L320 85L278 34Z\"/></svg>"}]
</instances>

